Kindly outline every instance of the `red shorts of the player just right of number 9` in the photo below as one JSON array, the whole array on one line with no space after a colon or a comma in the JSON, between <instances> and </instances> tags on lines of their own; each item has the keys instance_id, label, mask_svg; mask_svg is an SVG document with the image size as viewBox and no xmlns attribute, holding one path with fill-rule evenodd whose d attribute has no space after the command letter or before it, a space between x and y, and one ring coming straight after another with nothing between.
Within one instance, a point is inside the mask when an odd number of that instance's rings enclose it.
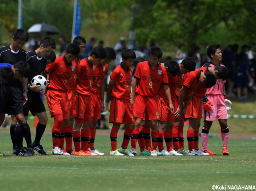
<instances>
[{"instance_id":1,"label":"red shorts of the player just right of number 9","mask_svg":"<svg viewBox=\"0 0 256 191\"><path fill-rule=\"evenodd\" d=\"M174 105L174 100L172 100L172 104ZM174 113L170 111L169 101L161 96L158 96L158 111L160 121L174 121Z\"/></svg>"}]
</instances>

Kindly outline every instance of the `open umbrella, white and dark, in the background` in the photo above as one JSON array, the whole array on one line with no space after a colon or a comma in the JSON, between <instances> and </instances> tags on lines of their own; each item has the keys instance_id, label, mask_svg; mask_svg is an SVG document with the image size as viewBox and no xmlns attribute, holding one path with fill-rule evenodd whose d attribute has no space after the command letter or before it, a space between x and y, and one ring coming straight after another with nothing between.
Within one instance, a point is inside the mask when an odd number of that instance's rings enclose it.
<instances>
[{"instance_id":1,"label":"open umbrella, white and dark, in the background","mask_svg":"<svg viewBox=\"0 0 256 191\"><path fill-rule=\"evenodd\" d=\"M58 34L60 33L60 31L55 26L52 26L52 25L34 24L32 27L28 29L28 33L51 35L51 34Z\"/></svg>"}]
</instances>

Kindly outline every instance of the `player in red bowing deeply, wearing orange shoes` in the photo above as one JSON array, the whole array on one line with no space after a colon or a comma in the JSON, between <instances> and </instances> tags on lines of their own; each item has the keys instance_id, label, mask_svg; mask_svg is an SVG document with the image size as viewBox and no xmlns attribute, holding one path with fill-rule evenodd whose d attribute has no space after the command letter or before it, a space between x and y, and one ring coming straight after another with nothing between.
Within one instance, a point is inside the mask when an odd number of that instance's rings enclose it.
<instances>
[{"instance_id":1,"label":"player in red bowing deeply, wearing orange shoes","mask_svg":"<svg viewBox=\"0 0 256 191\"><path fill-rule=\"evenodd\" d=\"M75 90L76 116L73 129L75 150L71 155L98 155L88 150L92 121L91 88L95 65L100 64L104 58L106 58L106 50L102 46L96 46L90 56L82 59L79 63Z\"/></svg>"}]
</instances>

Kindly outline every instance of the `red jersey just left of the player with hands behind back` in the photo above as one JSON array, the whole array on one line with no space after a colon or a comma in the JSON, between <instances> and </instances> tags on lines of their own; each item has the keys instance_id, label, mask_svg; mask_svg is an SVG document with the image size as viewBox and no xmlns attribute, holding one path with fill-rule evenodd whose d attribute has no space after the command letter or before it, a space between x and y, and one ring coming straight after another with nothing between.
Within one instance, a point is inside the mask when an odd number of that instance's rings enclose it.
<instances>
[{"instance_id":1,"label":"red jersey just left of the player with hands behind back","mask_svg":"<svg viewBox=\"0 0 256 191\"><path fill-rule=\"evenodd\" d=\"M108 72L108 65L95 65L94 74L92 78L92 92L100 93L100 85L106 73Z\"/></svg>"}]
</instances>

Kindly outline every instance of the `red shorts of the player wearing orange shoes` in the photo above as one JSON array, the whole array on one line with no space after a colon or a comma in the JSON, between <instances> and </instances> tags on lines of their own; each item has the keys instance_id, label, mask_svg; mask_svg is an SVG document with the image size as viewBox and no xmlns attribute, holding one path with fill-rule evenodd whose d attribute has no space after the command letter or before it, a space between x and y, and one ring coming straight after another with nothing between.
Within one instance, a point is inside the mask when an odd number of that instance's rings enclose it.
<instances>
[{"instance_id":1,"label":"red shorts of the player wearing orange shoes","mask_svg":"<svg viewBox=\"0 0 256 191\"><path fill-rule=\"evenodd\" d=\"M75 93L76 117L75 122L92 121L91 96Z\"/></svg>"}]
</instances>

